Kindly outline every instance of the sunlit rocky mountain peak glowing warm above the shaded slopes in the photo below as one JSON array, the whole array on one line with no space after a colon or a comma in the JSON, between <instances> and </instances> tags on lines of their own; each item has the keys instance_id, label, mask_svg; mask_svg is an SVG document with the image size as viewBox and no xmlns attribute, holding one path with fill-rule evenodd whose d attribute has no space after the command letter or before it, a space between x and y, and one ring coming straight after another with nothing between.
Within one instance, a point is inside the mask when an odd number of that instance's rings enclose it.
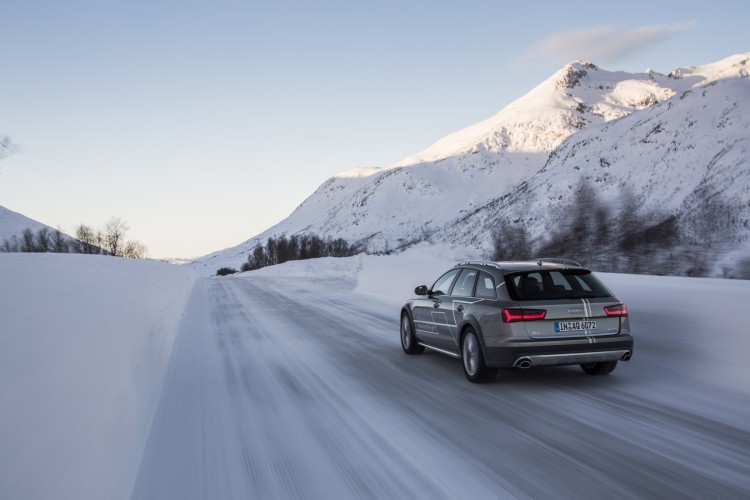
<instances>
[{"instance_id":1,"label":"sunlit rocky mountain peak glowing warm above the shaded slopes","mask_svg":"<svg viewBox=\"0 0 750 500\"><path fill-rule=\"evenodd\" d=\"M653 72L613 72L588 61L576 61L494 116L448 135L394 167L482 150L549 153L592 123L621 118L669 99L676 93L674 82Z\"/></svg>"}]
</instances>

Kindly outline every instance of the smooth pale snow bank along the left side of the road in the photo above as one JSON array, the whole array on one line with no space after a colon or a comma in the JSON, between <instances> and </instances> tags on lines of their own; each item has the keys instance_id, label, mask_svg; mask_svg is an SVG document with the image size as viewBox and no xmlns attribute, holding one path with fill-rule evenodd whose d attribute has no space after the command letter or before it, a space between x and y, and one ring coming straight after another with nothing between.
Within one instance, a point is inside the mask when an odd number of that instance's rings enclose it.
<instances>
[{"instance_id":1,"label":"smooth pale snow bank along the left side of the road","mask_svg":"<svg viewBox=\"0 0 750 500\"><path fill-rule=\"evenodd\" d=\"M116 498L140 463L185 267L0 254L0 498Z\"/></svg>"}]
</instances>

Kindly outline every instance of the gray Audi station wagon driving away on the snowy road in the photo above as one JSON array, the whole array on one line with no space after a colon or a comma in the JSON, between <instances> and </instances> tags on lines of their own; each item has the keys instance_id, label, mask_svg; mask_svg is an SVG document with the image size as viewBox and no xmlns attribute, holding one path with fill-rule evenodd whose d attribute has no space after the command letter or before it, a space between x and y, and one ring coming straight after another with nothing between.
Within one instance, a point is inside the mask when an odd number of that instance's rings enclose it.
<instances>
[{"instance_id":1,"label":"gray Audi station wagon driving away on the snowy road","mask_svg":"<svg viewBox=\"0 0 750 500\"><path fill-rule=\"evenodd\" d=\"M401 309L401 347L461 359L484 382L498 367L579 364L606 375L633 352L628 309L574 261L462 262Z\"/></svg>"}]
</instances>

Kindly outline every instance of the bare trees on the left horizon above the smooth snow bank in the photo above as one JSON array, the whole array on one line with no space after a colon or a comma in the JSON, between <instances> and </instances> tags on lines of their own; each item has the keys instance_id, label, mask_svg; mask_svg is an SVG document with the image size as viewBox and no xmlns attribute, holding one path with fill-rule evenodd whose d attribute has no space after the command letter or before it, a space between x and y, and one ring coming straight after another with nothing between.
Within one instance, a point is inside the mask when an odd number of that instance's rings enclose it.
<instances>
[{"instance_id":1,"label":"bare trees on the left horizon above the smooth snow bank","mask_svg":"<svg viewBox=\"0 0 750 500\"><path fill-rule=\"evenodd\" d=\"M52 252L114 255L129 259L146 258L146 246L127 239L128 224L120 217L112 217L102 229L81 224L75 238L59 229L40 227L24 229L20 235L3 240L0 252Z\"/></svg>"}]
</instances>

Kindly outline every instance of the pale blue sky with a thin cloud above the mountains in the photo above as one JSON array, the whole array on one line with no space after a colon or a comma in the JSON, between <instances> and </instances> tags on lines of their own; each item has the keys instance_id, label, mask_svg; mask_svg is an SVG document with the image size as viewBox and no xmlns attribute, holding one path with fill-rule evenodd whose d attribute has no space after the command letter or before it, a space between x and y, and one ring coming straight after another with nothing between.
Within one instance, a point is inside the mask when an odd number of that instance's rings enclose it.
<instances>
[{"instance_id":1,"label":"pale blue sky with a thin cloud above the mountains","mask_svg":"<svg viewBox=\"0 0 750 500\"><path fill-rule=\"evenodd\" d=\"M750 50L750 4L2 0L0 205L152 257L238 244L322 182L487 118L563 64Z\"/></svg>"}]
</instances>

